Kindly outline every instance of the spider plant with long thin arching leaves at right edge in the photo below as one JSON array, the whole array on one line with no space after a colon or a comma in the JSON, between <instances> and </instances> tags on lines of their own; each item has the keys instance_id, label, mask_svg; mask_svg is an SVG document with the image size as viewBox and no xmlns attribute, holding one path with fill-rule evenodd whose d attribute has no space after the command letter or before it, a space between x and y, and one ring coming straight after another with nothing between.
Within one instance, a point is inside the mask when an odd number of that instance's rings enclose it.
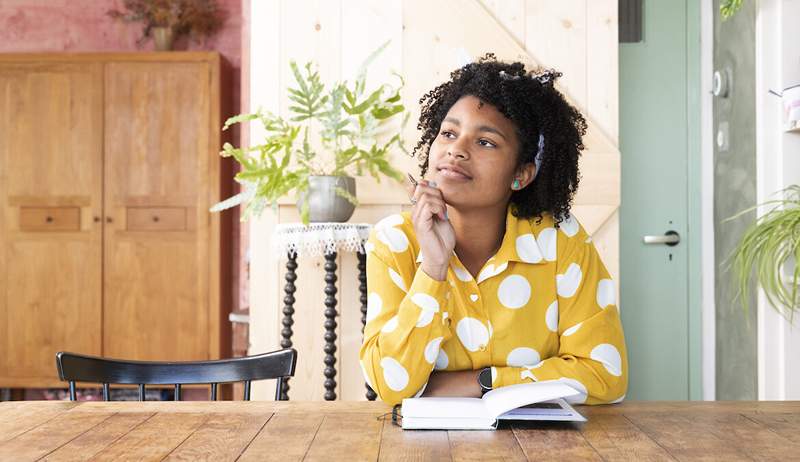
<instances>
[{"instance_id":1,"label":"spider plant with long thin arching leaves at right edge","mask_svg":"<svg viewBox=\"0 0 800 462\"><path fill-rule=\"evenodd\" d=\"M749 309L750 274L755 271L769 303L791 321L794 312L800 310L800 185L789 186L780 193L783 193L781 199L750 207L723 220L725 223L758 207L775 205L750 225L726 259L726 270L734 269L736 298L742 299L745 312ZM795 267L791 280L787 281L783 269L792 261Z\"/></svg>"}]
</instances>

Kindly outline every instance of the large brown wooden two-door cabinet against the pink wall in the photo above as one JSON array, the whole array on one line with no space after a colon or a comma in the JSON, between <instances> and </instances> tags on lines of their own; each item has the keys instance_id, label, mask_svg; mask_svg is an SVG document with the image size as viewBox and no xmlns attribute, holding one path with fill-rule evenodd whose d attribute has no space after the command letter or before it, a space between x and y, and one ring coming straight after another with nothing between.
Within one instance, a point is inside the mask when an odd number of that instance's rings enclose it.
<instances>
[{"instance_id":1,"label":"large brown wooden two-door cabinet against the pink wall","mask_svg":"<svg viewBox=\"0 0 800 462\"><path fill-rule=\"evenodd\" d=\"M222 328L216 53L0 55L0 387L55 353L211 359Z\"/></svg>"}]
</instances>

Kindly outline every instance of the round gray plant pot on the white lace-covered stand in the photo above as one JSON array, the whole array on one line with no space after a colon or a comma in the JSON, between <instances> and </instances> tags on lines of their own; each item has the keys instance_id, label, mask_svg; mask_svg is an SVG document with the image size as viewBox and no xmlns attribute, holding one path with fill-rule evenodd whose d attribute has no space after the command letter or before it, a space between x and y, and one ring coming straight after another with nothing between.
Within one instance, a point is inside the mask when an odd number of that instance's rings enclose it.
<instances>
[{"instance_id":1,"label":"round gray plant pot on the white lace-covered stand","mask_svg":"<svg viewBox=\"0 0 800 462\"><path fill-rule=\"evenodd\" d=\"M356 206L336 194L340 187L355 197L356 180L349 176L310 176L308 177L309 221L312 223L344 223L353 216ZM300 194L297 210L301 210L305 193Z\"/></svg>"}]
</instances>

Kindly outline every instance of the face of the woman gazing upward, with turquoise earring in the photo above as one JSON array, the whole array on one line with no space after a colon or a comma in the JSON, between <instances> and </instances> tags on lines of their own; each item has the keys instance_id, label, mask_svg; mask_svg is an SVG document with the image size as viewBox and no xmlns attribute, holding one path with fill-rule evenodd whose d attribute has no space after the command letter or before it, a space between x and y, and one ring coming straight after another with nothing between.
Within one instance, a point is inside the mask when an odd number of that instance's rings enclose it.
<instances>
[{"instance_id":1,"label":"face of the woman gazing upward, with turquoise earring","mask_svg":"<svg viewBox=\"0 0 800 462\"><path fill-rule=\"evenodd\" d=\"M455 207L505 207L514 178L525 187L533 174L529 164L515 176L519 147L511 120L477 97L463 96L431 144L427 176Z\"/></svg>"}]
</instances>

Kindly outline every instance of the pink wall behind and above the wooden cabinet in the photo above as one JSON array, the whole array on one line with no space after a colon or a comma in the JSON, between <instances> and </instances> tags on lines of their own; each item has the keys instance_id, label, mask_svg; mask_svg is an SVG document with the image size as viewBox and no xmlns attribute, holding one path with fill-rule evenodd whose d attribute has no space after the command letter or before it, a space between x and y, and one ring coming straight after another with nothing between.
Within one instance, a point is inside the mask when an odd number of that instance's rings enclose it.
<instances>
[{"instance_id":1,"label":"pink wall behind and above the wooden cabinet","mask_svg":"<svg viewBox=\"0 0 800 462\"><path fill-rule=\"evenodd\" d=\"M242 17L242 0L217 1L227 12L223 29L204 44L189 43L182 38L175 49L216 50L222 54L231 68L230 112L238 114L241 112L242 28L246 21ZM152 50L152 40L141 47L136 44L141 37L140 24L115 21L106 15L108 10L121 6L121 0L0 0L0 53ZM238 145L238 131L233 131L233 138L232 142ZM236 210L231 236L234 261L230 264L235 294L231 300L232 309L238 309L240 304L247 306L247 276L242 274L246 266L240 263L239 233Z\"/></svg>"}]
</instances>

